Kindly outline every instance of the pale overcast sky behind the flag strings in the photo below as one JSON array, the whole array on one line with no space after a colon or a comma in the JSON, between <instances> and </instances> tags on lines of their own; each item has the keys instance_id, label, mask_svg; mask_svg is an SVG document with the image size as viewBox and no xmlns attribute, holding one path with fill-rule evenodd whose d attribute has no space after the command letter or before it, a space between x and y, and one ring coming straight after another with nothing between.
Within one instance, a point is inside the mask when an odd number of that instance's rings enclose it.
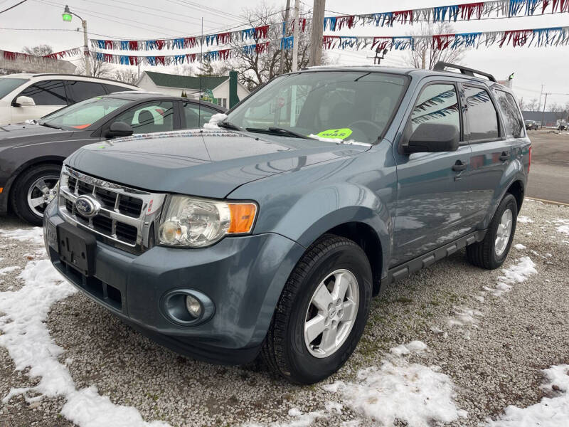
<instances>
[{"instance_id":1,"label":"pale overcast sky behind the flag strings","mask_svg":"<svg viewBox=\"0 0 569 427\"><path fill-rule=\"evenodd\" d=\"M0 10L20 0L0 0ZM61 13L67 1L70 9L87 20L91 38L160 38L188 36L200 33L201 18L204 32L212 33L237 26L243 22L243 7L253 7L260 1L235 0L27 0L11 11L0 14L0 48L21 51L23 46L48 43L55 51L83 45L83 34L69 31L80 26L78 19L63 22ZM285 8L286 0L265 0L267 4ZM368 14L382 11L415 9L429 6L467 3L467 0L398 0L398 1L326 1L326 16L337 14ZM312 7L312 0L302 0ZM292 0L294 4L294 0ZM203 5L203 7L200 7ZM211 8L213 10L208 10ZM456 32L500 31L548 26L569 26L569 14L532 16L512 19L492 19L453 23ZM4 28L26 28L11 30ZM38 31L43 28L45 30ZM395 23L393 28L373 26L356 27L342 31L353 36L405 36L413 26ZM339 34L339 33L335 33ZM146 54L146 53L142 53ZM339 63L373 63L366 56L371 51L332 51ZM406 53L391 51L385 65L404 65ZM514 91L523 100L539 97L541 84L549 93L569 93L569 46L558 48L484 48L469 49L462 61L464 65L486 70L498 78L506 79L515 73ZM160 67L154 68L160 70ZM569 101L569 95L550 95L549 102Z\"/></svg>"}]
</instances>

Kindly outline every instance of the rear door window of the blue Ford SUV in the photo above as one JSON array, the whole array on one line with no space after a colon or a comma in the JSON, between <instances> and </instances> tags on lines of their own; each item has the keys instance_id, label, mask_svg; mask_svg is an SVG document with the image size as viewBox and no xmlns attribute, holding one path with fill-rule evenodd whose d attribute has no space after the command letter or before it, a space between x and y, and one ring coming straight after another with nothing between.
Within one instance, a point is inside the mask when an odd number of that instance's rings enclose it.
<instances>
[{"instance_id":1,"label":"rear door window of the blue Ford SUV","mask_svg":"<svg viewBox=\"0 0 569 427\"><path fill-rule=\"evenodd\" d=\"M468 129L471 141L498 139L498 116L490 94L482 88L464 86L467 99Z\"/></svg>"}]
</instances>

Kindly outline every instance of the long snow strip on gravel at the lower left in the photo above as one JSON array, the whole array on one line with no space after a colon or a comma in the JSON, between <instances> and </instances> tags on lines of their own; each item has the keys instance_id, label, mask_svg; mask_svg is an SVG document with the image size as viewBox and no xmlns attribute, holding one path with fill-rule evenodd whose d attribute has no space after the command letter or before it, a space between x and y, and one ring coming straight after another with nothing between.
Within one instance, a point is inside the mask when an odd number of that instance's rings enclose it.
<instances>
[{"instance_id":1,"label":"long snow strip on gravel at the lower left","mask_svg":"<svg viewBox=\"0 0 569 427\"><path fill-rule=\"evenodd\" d=\"M26 236L37 243L37 230L0 233L18 240ZM24 283L20 290L0 292L0 345L8 350L18 371L29 367L28 376L39 382L36 386L11 389L2 399L3 404L18 394L23 394L28 403L39 401L42 396L64 396L67 402L61 413L80 427L168 426L159 421L146 423L136 408L112 404L93 386L76 389L68 368L58 361L65 349L53 342L45 320L51 305L77 291L46 259L28 262L18 278ZM29 393L37 396L28 397Z\"/></svg>"}]
</instances>

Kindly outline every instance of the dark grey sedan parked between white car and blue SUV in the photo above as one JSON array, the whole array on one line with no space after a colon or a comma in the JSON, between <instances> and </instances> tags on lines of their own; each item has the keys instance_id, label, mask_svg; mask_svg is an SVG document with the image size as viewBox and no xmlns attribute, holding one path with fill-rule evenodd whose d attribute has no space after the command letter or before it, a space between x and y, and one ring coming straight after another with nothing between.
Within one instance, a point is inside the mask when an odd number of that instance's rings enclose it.
<instances>
[{"instance_id":1,"label":"dark grey sedan parked between white car and blue SUV","mask_svg":"<svg viewBox=\"0 0 569 427\"><path fill-rule=\"evenodd\" d=\"M24 221L41 225L57 194L63 159L83 145L133 132L200 127L223 111L186 97L132 91L78 102L36 124L0 126L0 214L11 207Z\"/></svg>"}]
</instances>

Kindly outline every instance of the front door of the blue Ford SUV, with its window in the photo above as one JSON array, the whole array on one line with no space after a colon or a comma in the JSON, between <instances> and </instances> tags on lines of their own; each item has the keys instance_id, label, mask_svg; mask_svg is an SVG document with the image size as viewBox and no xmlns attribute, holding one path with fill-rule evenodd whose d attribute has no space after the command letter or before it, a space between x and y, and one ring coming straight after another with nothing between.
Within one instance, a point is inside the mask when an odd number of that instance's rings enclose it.
<instances>
[{"instance_id":1,"label":"front door of the blue Ford SUV, with its window","mask_svg":"<svg viewBox=\"0 0 569 427\"><path fill-rule=\"evenodd\" d=\"M457 85L427 83L409 117L412 132L424 122L454 125L460 146L454 152L400 154L397 162L398 201L393 231L392 263L404 263L449 243L472 230L470 195L471 149L464 142L462 107Z\"/></svg>"}]
</instances>

